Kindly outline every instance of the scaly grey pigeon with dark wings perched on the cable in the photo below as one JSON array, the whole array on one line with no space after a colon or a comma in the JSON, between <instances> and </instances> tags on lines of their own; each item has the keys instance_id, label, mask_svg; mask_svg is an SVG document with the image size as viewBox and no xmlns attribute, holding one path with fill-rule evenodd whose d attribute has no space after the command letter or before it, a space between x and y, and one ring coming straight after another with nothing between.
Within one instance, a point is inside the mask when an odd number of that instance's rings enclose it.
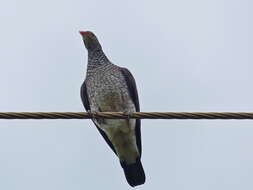
<instances>
[{"instance_id":1,"label":"scaly grey pigeon with dark wings perched on the cable","mask_svg":"<svg viewBox=\"0 0 253 190\"><path fill-rule=\"evenodd\" d=\"M93 32L79 33L88 51L86 78L80 91L86 111L139 112L138 92L131 72L107 58ZM140 119L93 118L92 121L119 158L128 184L132 187L144 184Z\"/></svg>"}]
</instances>

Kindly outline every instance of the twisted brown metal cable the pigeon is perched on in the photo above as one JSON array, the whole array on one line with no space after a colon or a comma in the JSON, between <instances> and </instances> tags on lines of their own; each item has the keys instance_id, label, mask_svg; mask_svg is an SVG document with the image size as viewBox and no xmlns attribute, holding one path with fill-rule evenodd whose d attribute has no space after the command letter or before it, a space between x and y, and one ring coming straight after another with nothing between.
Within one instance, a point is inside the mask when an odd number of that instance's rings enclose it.
<instances>
[{"instance_id":1,"label":"twisted brown metal cable the pigeon is perched on","mask_svg":"<svg viewBox=\"0 0 253 190\"><path fill-rule=\"evenodd\" d=\"M0 119L253 119L253 112L0 112Z\"/></svg>"}]
</instances>

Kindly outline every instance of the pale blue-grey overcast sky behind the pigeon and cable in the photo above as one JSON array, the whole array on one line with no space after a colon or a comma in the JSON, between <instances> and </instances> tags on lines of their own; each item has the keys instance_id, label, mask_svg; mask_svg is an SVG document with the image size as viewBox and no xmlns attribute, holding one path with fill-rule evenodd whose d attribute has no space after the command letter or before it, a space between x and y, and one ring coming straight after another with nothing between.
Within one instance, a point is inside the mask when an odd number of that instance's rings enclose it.
<instances>
[{"instance_id":1,"label":"pale blue-grey overcast sky behind the pigeon and cable","mask_svg":"<svg viewBox=\"0 0 253 190\"><path fill-rule=\"evenodd\" d=\"M98 36L142 111L253 111L250 0L0 1L0 111L84 111ZM136 189L253 188L253 121L143 120ZM132 189L88 120L1 120L0 189Z\"/></svg>"}]
</instances>

